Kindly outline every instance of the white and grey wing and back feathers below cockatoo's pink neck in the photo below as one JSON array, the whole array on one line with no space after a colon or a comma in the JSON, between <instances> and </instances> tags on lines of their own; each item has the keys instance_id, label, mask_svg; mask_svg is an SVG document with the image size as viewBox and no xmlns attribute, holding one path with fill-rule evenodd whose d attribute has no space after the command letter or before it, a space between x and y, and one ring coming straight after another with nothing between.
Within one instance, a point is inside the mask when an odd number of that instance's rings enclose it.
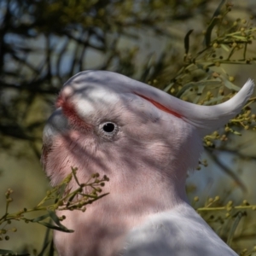
<instances>
[{"instance_id":1,"label":"white and grey wing and back feathers below cockatoo's pink neck","mask_svg":"<svg viewBox=\"0 0 256 256\"><path fill-rule=\"evenodd\" d=\"M188 204L159 212L125 238L122 256L235 256Z\"/></svg>"}]
</instances>

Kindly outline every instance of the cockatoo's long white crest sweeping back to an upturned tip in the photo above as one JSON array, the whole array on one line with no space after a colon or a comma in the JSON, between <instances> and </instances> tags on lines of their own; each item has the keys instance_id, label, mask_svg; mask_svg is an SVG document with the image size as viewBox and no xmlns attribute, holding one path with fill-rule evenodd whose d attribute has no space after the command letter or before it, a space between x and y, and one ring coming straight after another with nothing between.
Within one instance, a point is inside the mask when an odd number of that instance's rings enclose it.
<instances>
[{"instance_id":1,"label":"cockatoo's long white crest sweeping back to an upturned tip","mask_svg":"<svg viewBox=\"0 0 256 256\"><path fill-rule=\"evenodd\" d=\"M104 90L106 83L108 83L108 92L113 90L119 93L136 93L159 102L162 106L179 114L184 121L197 127L201 136L220 128L240 113L241 108L253 94L254 87L253 80L248 79L236 96L229 101L215 106L201 106L184 102L148 84L108 71L84 71L69 79L64 85L73 84L73 87L83 90L85 84L93 84L99 90Z\"/></svg>"}]
</instances>

